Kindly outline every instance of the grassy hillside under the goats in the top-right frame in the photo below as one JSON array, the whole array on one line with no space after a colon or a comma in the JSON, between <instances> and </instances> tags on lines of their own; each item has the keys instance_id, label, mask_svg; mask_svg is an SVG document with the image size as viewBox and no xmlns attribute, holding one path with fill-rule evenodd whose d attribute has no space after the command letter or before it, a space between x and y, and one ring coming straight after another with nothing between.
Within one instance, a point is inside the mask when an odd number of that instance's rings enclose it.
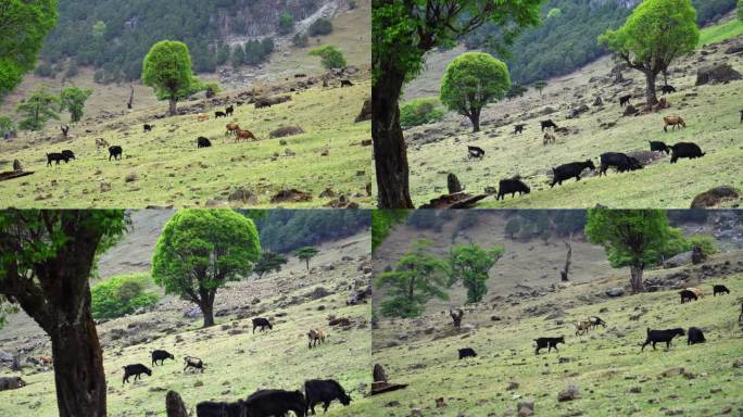
<instances>
[{"instance_id":1,"label":"grassy hillside under the goats in the top-right frame","mask_svg":"<svg viewBox=\"0 0 743 417\"><path fill-rule=\"evenodd\" d=\"M405 132L411 164L411 193L416 205L428 202L446 190L446 175L454 173L470 192L498 187L502 178L520 175L531 186L531 194L496 202L483 200L478 207L590 207L597 203L609 207L688 208L693 198L713 187L743 188L743 124L740 123L743 81L695 87L696 71L717 62L729 62L743 72L743 58L725 54L738 36L698 51L676 63L669 83L678 92L667 96L670 109L637 117L624 117L618 97L632 94L632 103L644 101L644 79L639 72L627 71L627 85L613 85L608 59L600 60L569 76L550 80L544 96L529 91L524 98L492 104L483 110L484 126L479 134L462 116L449 114L436 124ZM662 83L662 79L659 79ZM426 90L427 92L430 89ZM593 105L596 97L604 104ZM587 105L578 118L567 118L570 109ZM687 128L663 131L663 116L680 115ZM543 146L540 121L552 118L570 134L557 135L555 144ZM527 124L524 135L514 136L515 124ZM707 155L682 160L671 165L668 156L653 155L654 163L629 174L609 172L607 177L584 175L550 189L552 167L593 160L604 152L650 151L651 140L667 143L693 141ZM467 146L486 150L482 161L468 160ZM597 173L596 173L597 175Z\"/></svg>"}]
</instances>

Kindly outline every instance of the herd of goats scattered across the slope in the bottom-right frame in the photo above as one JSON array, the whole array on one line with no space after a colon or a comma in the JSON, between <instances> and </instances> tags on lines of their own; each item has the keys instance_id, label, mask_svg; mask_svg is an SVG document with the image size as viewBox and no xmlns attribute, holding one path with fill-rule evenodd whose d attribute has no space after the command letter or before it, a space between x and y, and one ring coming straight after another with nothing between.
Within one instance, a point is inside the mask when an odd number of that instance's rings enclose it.
<instances>
[{"instance_id":1,"label":"herd of goats scattered across the slope in the bottom-right frame","mask_svg":"<svg viewBox=\"0 0 743 417\"><path fill-rule=\"evenodd\" d=\"M690 302L692 300L698 300L704 298L705 293L698 288L687 288L682 291L679 292L681 295L681 304L685 302ZM722 285L715 285L713 286L713 295L717 296L717 294L730 294L730 290ZM743 313L741 314L741 317L743 317ZM632 318L630 318L632 319ZM741 318L739 318L740 320ZM576 336L581 336L581 334L587 334L589 330L595 329L597 326L606 327L606 321L604 321L601 317L599 316L589 316L585 318L585 320L581 320L575 324L576 326ZM645 346L651 344L653 346L653 350L655 350L655 344L656 343L666 343L666 350L670 349L671 346L671 341L675 337L677 336L687 336L687 344L696 344L696 343L704 343L706 342L706 339L704 338L704 332L702 329L697 327L690 327L688 332L684 332L682 328L673 328L673 329L665 329L665 330L652 330L651 328L647 328L647 333L645 338L645 342L642 344L642 348L640 351L644 351ZM554 349L555 352L559 352L557 350L557 344L563 343L565 344L565 337L559 336L557 338L538 338L534 339L536 343L536 350L534 354L539 355L539 351L542 349L546 349L547 353L552 352ZM459 359L463 359L465 357L476 357L477 353L475 352L474 349L471 348L463 348L458 350L458 355Z\"/></svg>"}]
</instances>

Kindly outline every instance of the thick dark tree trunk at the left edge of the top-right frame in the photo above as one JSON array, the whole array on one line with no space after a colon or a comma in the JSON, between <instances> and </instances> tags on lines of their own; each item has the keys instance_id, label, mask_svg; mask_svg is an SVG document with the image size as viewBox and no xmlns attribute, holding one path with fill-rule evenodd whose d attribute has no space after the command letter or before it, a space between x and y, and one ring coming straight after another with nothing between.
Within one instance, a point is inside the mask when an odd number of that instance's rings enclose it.
<instances>
[{"instance_id":1,"label":"thick dark tree trunk at the left edge of the top-right frame","mask_svg":"<svg viewBox=\"0 0 743 417\"><path fill-rule=\"evenodd\" d=\"M379 208L414 208L410 194L407 150L398 100L405 75L385 61L372 88L372 136Z\"/></svg>"}]
</instances>

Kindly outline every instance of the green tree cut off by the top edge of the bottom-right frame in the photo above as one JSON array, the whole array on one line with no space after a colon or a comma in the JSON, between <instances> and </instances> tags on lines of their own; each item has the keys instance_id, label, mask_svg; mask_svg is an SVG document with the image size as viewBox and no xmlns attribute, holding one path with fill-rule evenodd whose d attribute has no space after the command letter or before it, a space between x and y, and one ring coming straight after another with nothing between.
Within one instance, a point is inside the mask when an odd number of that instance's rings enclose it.
<instances>
[{"instance_id":1,"label":"green tree cut off by the top edge of the bottom-right frame","mask_svg":"<svg viewBox=\"0 0 743 417\"><path fill-rule=\"evenodd\" d=\"M662 210L589 210L585 236L606 250L615 268L630 267L632 292L642 292L642 274L656 263L673 238Z\"/></svg>"}]
</instances>

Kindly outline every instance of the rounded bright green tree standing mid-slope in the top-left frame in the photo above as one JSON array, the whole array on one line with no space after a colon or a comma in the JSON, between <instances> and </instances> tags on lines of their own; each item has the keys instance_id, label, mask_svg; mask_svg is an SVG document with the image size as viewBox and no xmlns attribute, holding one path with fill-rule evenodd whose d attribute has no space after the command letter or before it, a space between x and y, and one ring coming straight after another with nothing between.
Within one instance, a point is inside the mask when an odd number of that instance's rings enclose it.
<instances>
[{"instance_id":1,"label":"rounded bright green tree standing mid-slope in the top-left frame","mask_svg":"<svg viewBox=\"0 0 743 417\"><path fill-rule=\"evenodd\" d=\"M159 100L168 100L169 113L175 115L178 100L193 93L193 85L199 84L186 43L162 40L153 45L144 56L142 83L155 90Z\"/></svg>"}]
</instances>

